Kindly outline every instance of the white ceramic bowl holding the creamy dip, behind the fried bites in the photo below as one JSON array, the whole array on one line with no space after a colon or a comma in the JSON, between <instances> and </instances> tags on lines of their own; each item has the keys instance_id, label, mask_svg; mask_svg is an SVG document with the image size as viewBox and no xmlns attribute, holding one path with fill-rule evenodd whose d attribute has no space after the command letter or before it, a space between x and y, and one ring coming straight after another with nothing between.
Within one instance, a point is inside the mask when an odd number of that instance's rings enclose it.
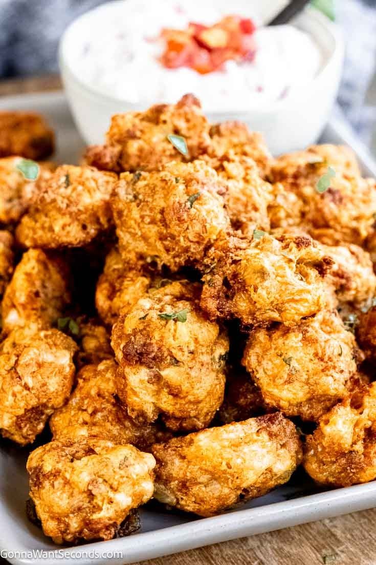
<instances>
[{"instance_id":1,"label":"white ceramic bowl holding the creamy dip, behind the fried bites","mask_svg":"<svg viewBox=\"0 0 376 565\"><path fill-rule=\"evenodd\" d=\"M239 5L244 3L247 6L253 4L247 0L244 2L237 0ZM72 54L81 34L85 31L87 33L93 19L100 19L106 9L108 4L80 16L68 27L60 41L59 59L65 92L77 128L89 145L103 143L104 134L113 114L145 110L148 106L148 104L129 103L95 92L73 73L68 64L71 60L69 54ZM252 11L254 12L255 10ZM323 55L320 71L307 87L301 90L299 97L286 97L270 104L267 108L250 107L246 112L239 112L235 108L226 112L210 112L206 109L206 114L213 123L241 120L253 131L262 132L270 150L276 155L302 149L318 139L338 92L343 64L343 39L338 28L329 19L314 8L307 7L296 18L294 24L311 34Z\"/></svg>"}]
</instances>

